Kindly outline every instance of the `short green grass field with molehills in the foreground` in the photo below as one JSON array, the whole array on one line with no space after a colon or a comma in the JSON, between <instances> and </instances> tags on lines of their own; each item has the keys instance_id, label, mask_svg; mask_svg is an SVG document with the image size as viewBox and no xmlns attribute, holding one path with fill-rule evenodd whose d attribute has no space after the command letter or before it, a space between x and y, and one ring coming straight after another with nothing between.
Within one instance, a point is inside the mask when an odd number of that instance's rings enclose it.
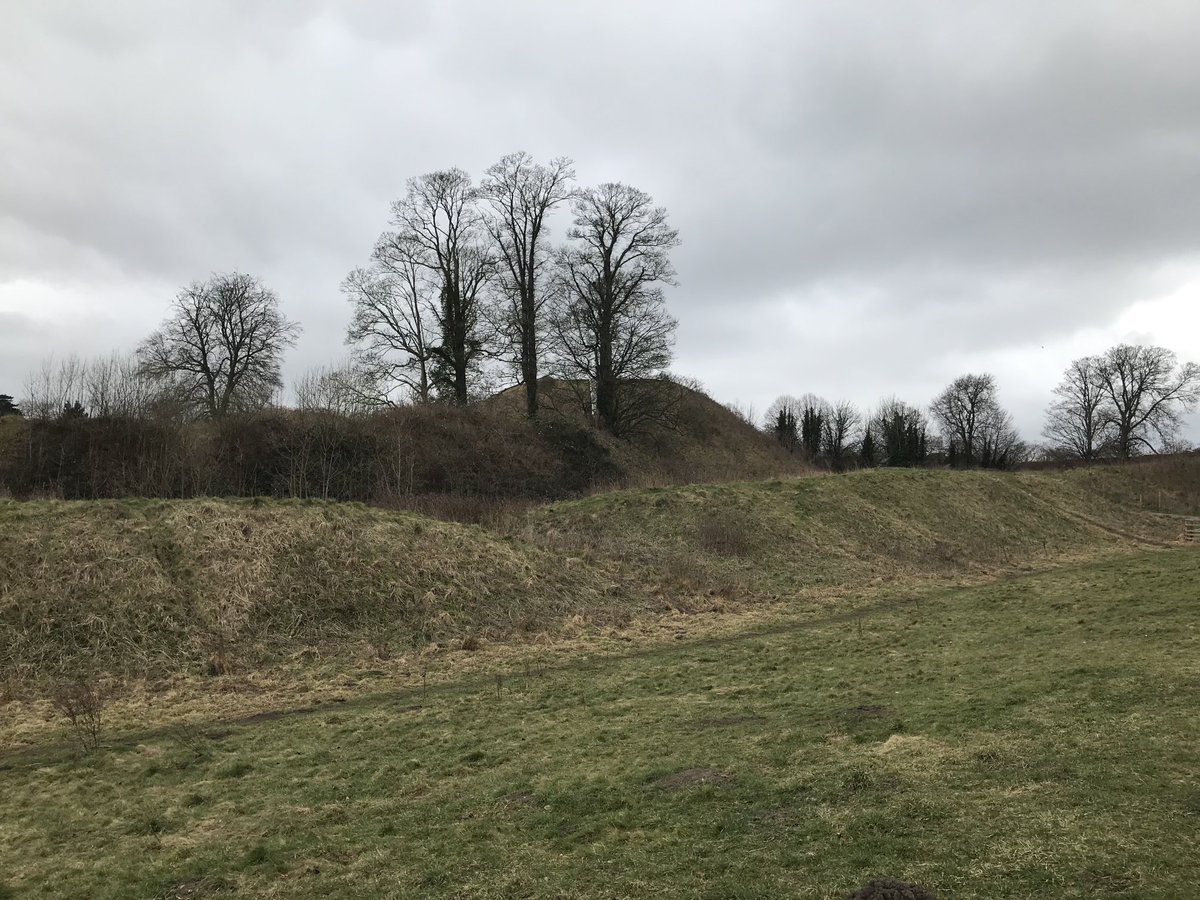
<instances>
[{"instance_id":1,"label":"short green grass field with molehills in the foreground","mask_svg":"<svg viewBox=\"0 0 1200 900\"><path fill-rule=\"evenodd\" d=\"M0 895L1183 898L1200 552L0 758Z\"/></svg>"}]
</instances>

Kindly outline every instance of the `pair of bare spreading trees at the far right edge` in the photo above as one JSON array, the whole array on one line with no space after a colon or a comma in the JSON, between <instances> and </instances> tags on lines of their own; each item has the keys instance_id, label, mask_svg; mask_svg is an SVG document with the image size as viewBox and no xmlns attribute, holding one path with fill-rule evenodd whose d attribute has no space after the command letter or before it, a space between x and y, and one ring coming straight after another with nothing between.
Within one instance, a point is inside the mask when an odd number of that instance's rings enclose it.
<instances>
[{"instance_id":1,"label":"pair of bare spreading trees at the far right edge","mask_svg":"<svg viewBox=\"0 0 1200 900\"><path fill-rule=\"evenodd\" d=\"M1183 416L1200 403L1200 366L1163 347L1118 344L1067 367L1043 434L1060 458L1128 460L1187 449Z\"/></svg>"}]
</instances>

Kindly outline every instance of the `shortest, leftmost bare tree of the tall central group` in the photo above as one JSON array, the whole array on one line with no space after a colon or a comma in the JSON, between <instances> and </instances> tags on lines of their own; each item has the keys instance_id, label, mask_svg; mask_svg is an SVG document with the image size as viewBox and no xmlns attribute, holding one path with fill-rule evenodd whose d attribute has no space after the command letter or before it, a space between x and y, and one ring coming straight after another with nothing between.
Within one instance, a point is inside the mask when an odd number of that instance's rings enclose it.
<instances>
[{"instance_id":1,"label":"shortest, leftmost bare tree of the tall central group","mask_svg":"<svg viewBox=\"0 0 1200 900\"><path fill-rule=\"evenodd\" d=\"M437 331L436 283L426 276L421 248L409 235L388 233L376 244L370 269L355 269L342 282L354 307L346 341L355 367L390 395L407 390L418 403L432 391Z\"/></svg>"}]
</instances>

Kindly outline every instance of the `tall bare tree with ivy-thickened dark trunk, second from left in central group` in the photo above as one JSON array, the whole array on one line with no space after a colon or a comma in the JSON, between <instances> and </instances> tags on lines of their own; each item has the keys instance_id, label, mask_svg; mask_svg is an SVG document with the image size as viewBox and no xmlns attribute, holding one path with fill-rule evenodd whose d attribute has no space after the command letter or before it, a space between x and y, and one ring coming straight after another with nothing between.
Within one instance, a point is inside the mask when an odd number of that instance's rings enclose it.
<instances>
[{"instance_id":1,"label":"tall bare tree with ivy-thickened dark trunk, second from left in central group","mask_svg":"<svg viewBox=\"0 0 1200 900\"><path fill-rule=\"evenodd\" d=\"M472 377L486 356L486 288L496 259L486 242L478 194L462 169L445 169L408 180L408 191L391 206L395 235L380 242L402 246L433 281L430 305L437 340L430 380L440 396L464 406Z\"/></svg>"}]
</instances>

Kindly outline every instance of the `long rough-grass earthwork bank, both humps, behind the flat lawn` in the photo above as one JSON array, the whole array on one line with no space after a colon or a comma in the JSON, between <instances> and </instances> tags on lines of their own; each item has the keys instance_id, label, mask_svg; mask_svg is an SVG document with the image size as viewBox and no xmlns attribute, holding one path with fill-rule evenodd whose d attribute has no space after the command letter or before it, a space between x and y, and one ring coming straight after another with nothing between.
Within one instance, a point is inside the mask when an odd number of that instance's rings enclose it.
<instances>
[{"instance_id":1,"label":"long rough-grass earthwork bank, both humps, behind the flat lawn","mask_svg":"<svg viewBox=\"0 0 1200 900\"><path fill-rule=\"evenodd\" d=\"M0 504L0 676L253 667L822 604L1094 557L1177 526L1055 475L863 472L617 492L521 538L349 504Z\"/></svg>"}]
</instances>

